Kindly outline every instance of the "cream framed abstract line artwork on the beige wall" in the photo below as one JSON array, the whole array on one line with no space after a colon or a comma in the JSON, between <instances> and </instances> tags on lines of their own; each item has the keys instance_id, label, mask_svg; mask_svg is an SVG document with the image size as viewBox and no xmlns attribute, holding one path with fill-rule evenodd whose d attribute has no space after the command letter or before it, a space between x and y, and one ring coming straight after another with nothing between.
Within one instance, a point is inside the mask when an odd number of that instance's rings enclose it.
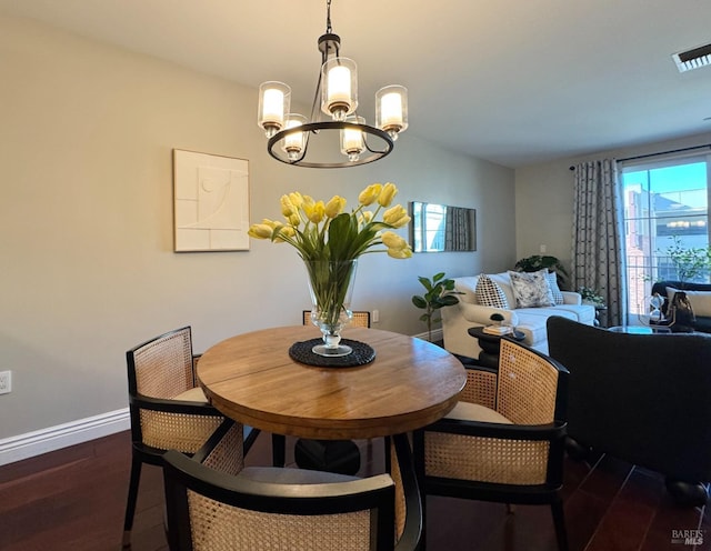
<instances>
[{"instance_id":1,"label":"cream framed abstract line artwork on the beige wall","mask_svg":"<svg viewBox=\"0 0 711 551\"><path fill-rule=\"evenodd\" d=\"M173 149L174 250L249 250L249 163Z\"/></svg>"}]
</instances>

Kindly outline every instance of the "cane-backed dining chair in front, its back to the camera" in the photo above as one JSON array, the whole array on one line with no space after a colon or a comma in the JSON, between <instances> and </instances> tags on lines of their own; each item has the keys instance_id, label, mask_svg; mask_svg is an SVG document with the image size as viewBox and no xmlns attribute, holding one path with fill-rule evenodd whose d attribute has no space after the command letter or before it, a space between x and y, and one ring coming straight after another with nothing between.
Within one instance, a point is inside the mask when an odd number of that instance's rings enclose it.
<instances>
[{"instance_id":1,"label":"cane-backed dining chair in front, its back to the camera","mask_svg":"<svg viewBox=\"0 0 711 551\"><path fill-rule=\"evenodd\" d=\"M359 479L288 468L243 470L223 449L239 435L226 421L192 459L166 453L171 551L414 550L422 514L410 444L390 439L390 474Z\"/></svg>"}]
</instances>

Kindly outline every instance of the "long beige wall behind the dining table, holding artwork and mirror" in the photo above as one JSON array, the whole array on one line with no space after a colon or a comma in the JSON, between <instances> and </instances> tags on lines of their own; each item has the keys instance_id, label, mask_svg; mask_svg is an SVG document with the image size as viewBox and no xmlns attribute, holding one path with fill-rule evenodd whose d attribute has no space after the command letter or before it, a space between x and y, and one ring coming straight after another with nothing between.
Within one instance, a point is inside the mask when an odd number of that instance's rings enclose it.
<instances>
[{"instance_id":1,"label":"long beige wall behind the dining table, holding artwork and mirror","mask_svg":"<svg viewBox=\"0 0 711 551\"><path fill-rule=\"evenodd\" d=\"M0 17L0 439L127 407L124 353L191 324L196 351L296 324L309 304L293 250L172 252L173 148L249 160L251 220L299 190L344 196L393 181L398 200L477 209L479 250L363 258L353 307L379 328L421 333L417 276L514 261L513 171L405 133L382 161L299 169L268 157L257 91L156 59ZM411 106L417 118L417 104ZM403 231L404 234L404 231Z\"/></svg>"}]
</instances>

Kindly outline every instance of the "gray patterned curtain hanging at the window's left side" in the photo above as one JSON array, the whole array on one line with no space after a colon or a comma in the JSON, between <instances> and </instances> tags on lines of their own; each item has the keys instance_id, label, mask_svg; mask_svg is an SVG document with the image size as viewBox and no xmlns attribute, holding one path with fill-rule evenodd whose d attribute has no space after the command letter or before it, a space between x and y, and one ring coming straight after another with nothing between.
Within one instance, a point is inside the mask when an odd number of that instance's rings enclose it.
<instances>
[{"instance_id":1,"label":"gray patterned curtain hanging at the window's left side","mask_svg":"<svg viewBox=\"0 0 711 551\"><path fill-rule=\"evenodd\" d=\"M608 307L608 324L627 320L622 201L613 159L575 167L573 290L592 288Z\"/></svg>"}]
</instances>

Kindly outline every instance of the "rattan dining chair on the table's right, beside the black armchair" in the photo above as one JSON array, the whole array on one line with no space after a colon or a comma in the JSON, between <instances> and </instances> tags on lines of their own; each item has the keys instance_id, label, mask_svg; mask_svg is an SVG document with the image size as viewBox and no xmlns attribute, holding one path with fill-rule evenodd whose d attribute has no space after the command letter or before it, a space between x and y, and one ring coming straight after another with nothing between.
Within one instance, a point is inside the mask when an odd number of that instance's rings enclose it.
<instances>
[{"instance_id":1,"label":"rattan dining chair on the table's right, beside the black armchair","mask_svg":"<svg viewBox=\"0 0 711 551\"><path fill-rule=\"evenodd\" d=\"M501 340L498 370L467 368L459 403L444 419L413 434L423 495L498 501L509 511L512 503L548 503L558 547L565 551L560 490L568 371L507 338Z\"/></svg>"}]
</instances>

